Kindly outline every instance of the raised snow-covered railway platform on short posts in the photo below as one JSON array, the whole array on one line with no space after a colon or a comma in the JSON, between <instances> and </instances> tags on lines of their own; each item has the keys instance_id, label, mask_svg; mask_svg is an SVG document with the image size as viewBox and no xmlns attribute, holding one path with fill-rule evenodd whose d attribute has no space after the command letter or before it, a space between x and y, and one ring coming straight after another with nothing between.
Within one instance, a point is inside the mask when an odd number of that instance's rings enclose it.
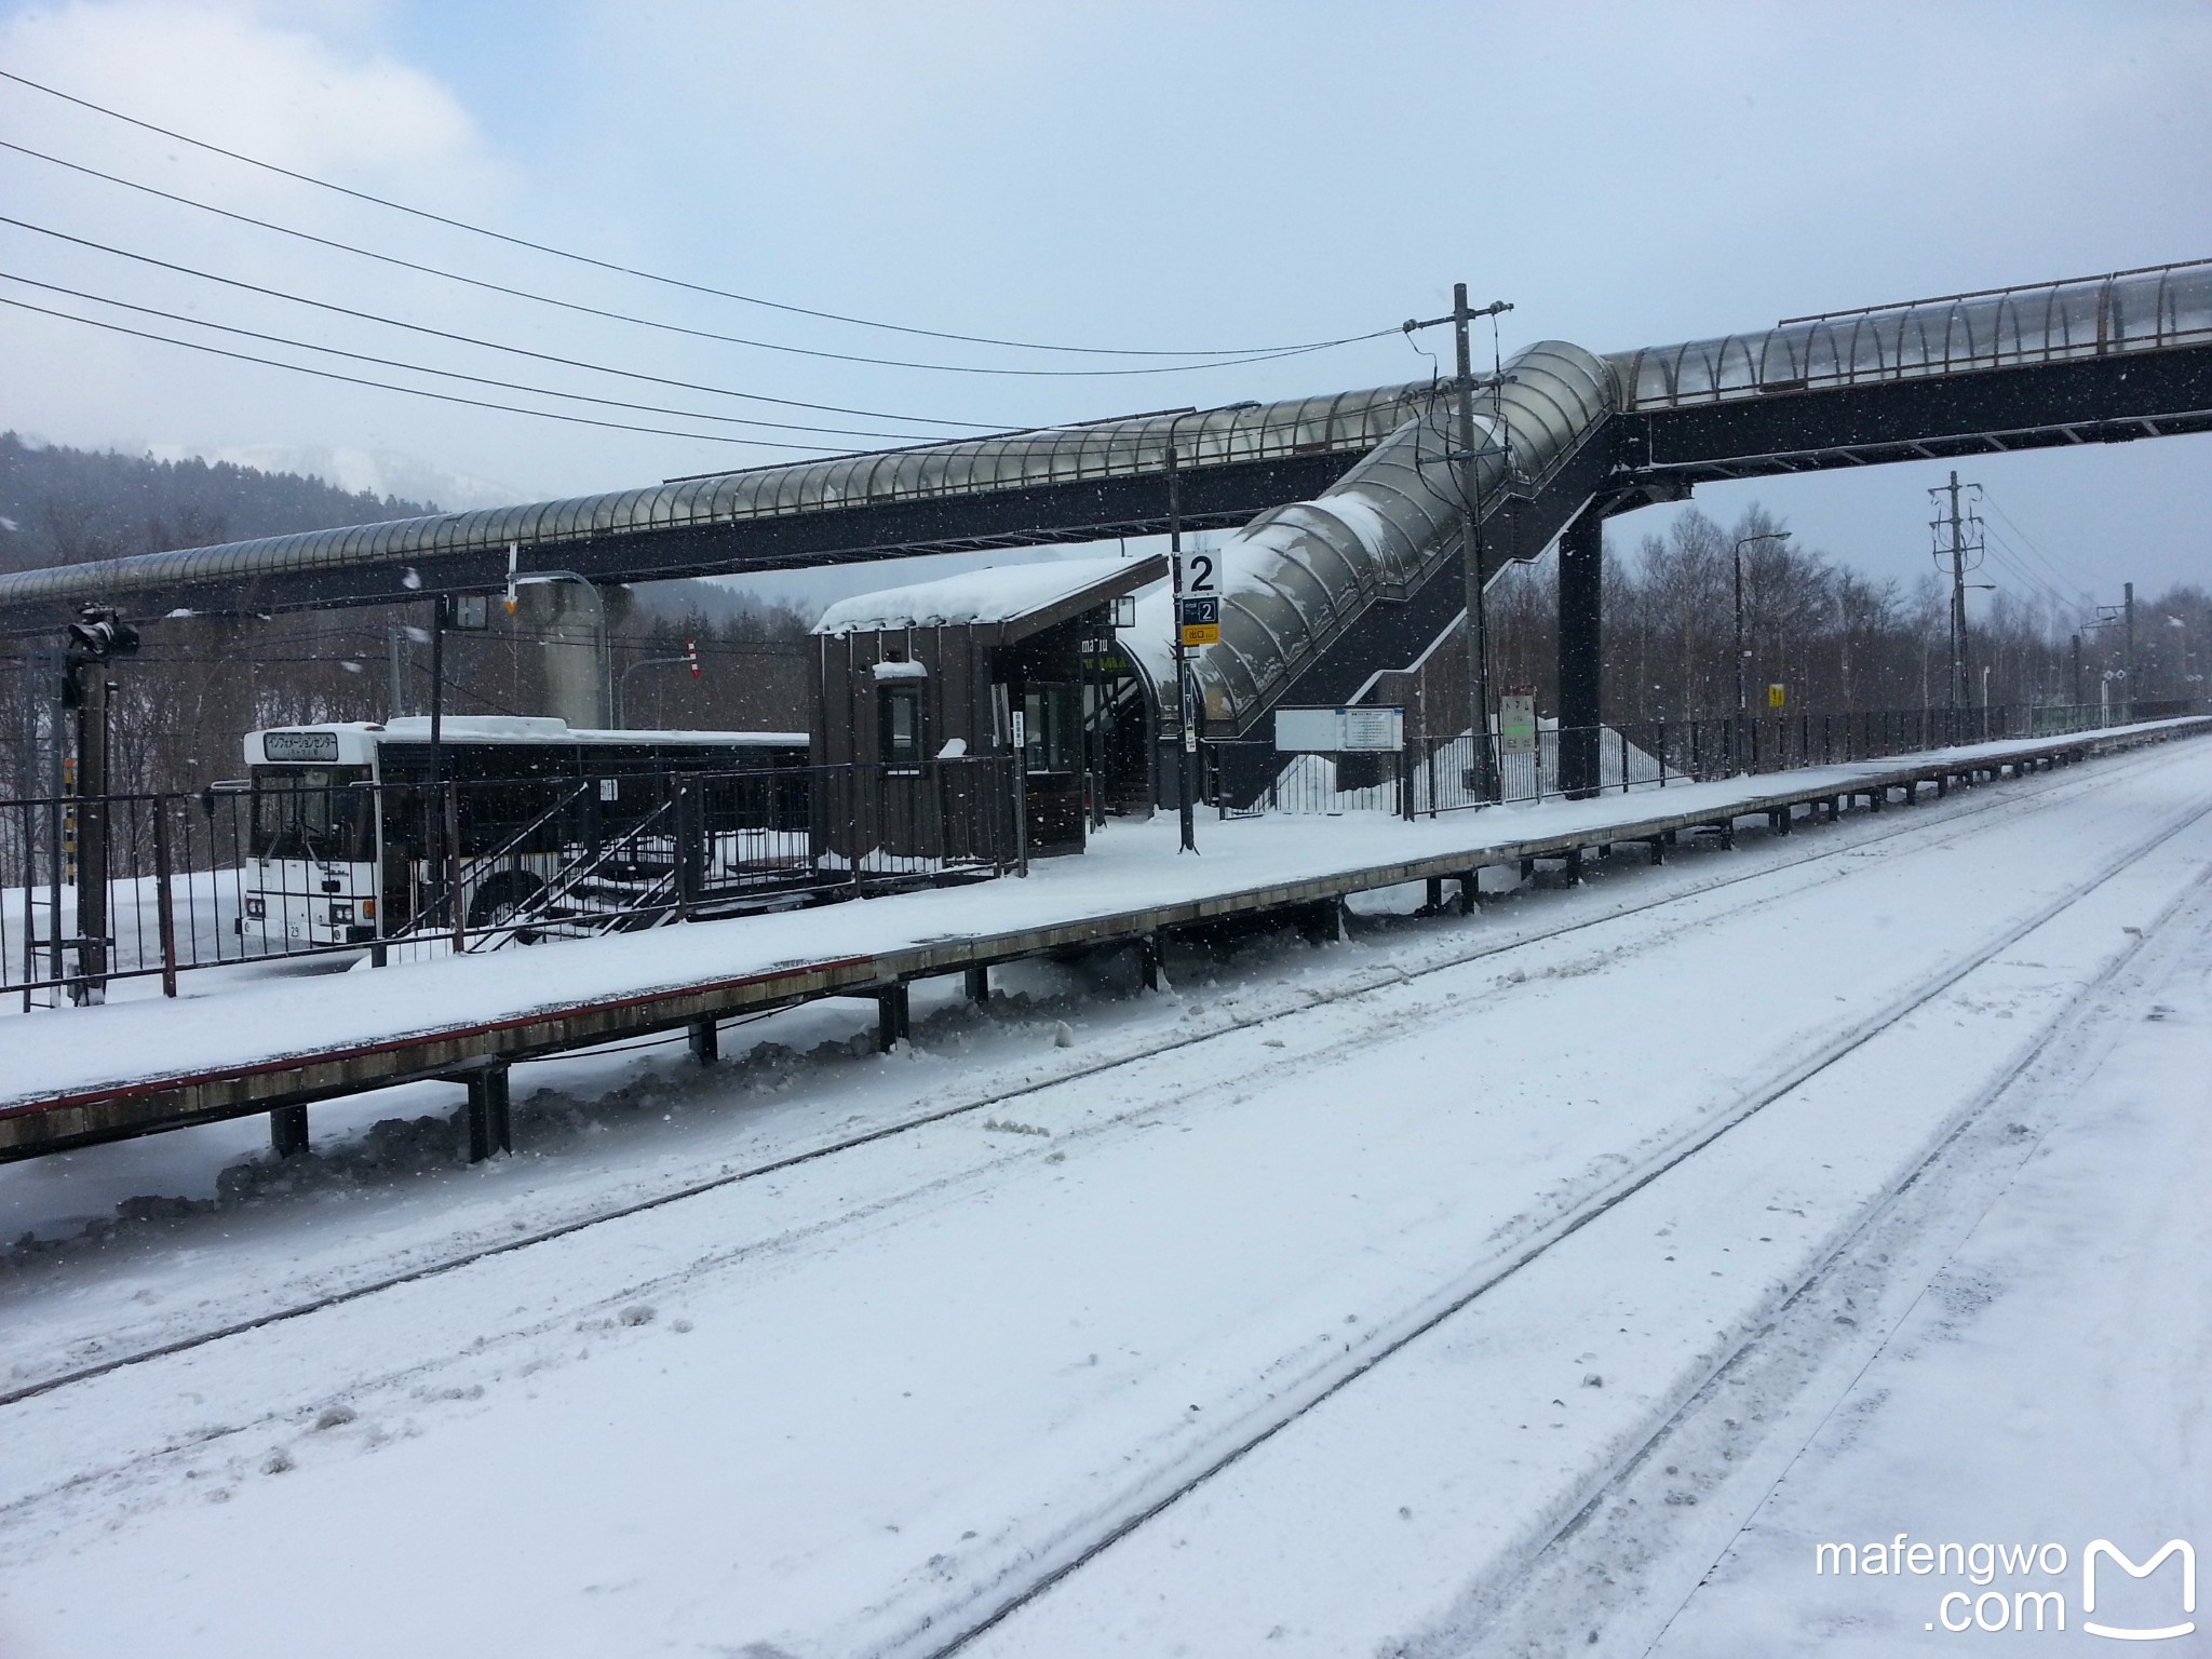
<instances>
[{"instance_id":1,"label":"raised snow-covered railway platform on short posts","mask_svg":"<svg viewBox=\"0 0 2212 1659\"><path fill-rule=\"evenodd\" d=\"M1157 818L1029 880L24 1015L7 1022L0 1161L248 1113L283 1115L279 1135L296 1141L307 1104L425 1077L469 1084L471 1150L484 1155L507 1141L515 1060L679 1029L710 1057L717 1020L825 995L876 998L891 1042L909 980L964 971L980 989L995 962L1144 949L1164 929L1294 907L1334 925L1349 894L1402 883L1455 880L1469 902L1493 865L1564 860L1573 876L1593 849L1641 843L1663 856L1697 830L1732 836L1756 818L1787 832L1858 803L2208 730L2212 719L2152 721L1418 823L1208 821L1194 858L1177 856L1172 818Z\"/></svg>"}]
</instances>

